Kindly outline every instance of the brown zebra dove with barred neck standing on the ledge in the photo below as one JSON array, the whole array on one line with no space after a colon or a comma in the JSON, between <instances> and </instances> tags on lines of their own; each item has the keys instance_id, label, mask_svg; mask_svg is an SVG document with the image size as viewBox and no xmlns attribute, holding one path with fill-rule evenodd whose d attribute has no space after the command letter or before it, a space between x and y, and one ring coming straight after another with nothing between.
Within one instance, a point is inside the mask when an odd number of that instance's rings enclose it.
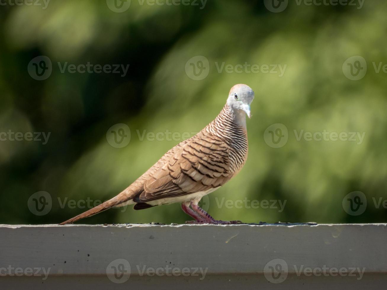
<instances>
[{"instance_id":1,"label":"brown zebra dove with barred neck standing on the ledge","mask_svg":"<svg viewBox=\"0 0 387 290\"><path fill-rule=\"evenodd\" d=\"M226 184L247 160L246 115L254 91L245 84L234 85L217 117L196 135L166 152L130 186L100 205L60 225L74 223L112 207L134 204L134 210L180 203L194 220L187 223L235 224L216 220L198 205L206 194Z\"/></svg>"}]
</instances>

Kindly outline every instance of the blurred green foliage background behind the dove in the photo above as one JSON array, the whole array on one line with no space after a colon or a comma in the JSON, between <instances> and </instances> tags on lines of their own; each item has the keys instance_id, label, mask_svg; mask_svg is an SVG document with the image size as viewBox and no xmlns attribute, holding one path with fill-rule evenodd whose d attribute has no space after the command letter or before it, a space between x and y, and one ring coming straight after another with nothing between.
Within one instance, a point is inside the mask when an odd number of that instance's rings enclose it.
<instances>
[{"instance_id":1,"label":"blurred green foliage background behind the dove","mask_svg":"<svg viewBox=\"0 0 387 290\"><path fill-rule=\"evenodd\" d=\"M139 5L115 13L106 1L51 0L39 6L0 7L0 132L51 132L42 142L0 141L0 223L58 223L87 210L68 200L107 200L126 188L181 140L140 140L145 132L197 132L223 107L238 83L255 91L247 120L249 155L240 174L209 195L208 211L245 222L386 222L387 82L372 62L387 62L387 3L296 5L281 13L259 0L208 0L185 5ZM48 56L53 70L35 80L27 65ZM186 62L210 63L208 77L192 80ZM342 65L365 58L368 72L349 80ZM61 73L57 62L129 64L114 73ZM275 73L219 73L215 63L286 65ZM106 131L125 123L130 143L114 148ZM281 148L264 132L284 124ZM138 131L137 131L138 130ZM361 144L296 139L293 130L365 132ZM139 133L137 133L139 132ZM31 194L47 191L49 213L31 213ZM367 208L348 215L342 200L362 191ZM215 200L217 197L217 200ZM218 206L225 200L286 200L276 208ZM59 198L59 201L58 201ZM223 201L225 201L223 200ZM220 207L220 208L219 208ZM111 209L82 223L183 223L178 204L134 211Z\"/></svg>"}]
</instances>

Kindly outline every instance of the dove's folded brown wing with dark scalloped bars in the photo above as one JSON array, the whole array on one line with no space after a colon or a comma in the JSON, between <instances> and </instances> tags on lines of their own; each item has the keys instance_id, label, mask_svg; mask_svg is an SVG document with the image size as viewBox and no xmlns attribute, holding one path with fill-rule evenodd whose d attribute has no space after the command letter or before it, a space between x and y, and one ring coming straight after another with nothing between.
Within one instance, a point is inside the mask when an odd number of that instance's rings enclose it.
<instances>
[{"instance_id":1,"label":"dove's folded brown wing with dark scalloped bars","mask_svg":"<svg viewBox=\"0 0 387 290\"><path fill-rule=\"evenodd\" d=\"M229 146L216 136L195 136L144 183L137 203L182 196L217 188L234 172L230 168Z\"/></svg>"}]
</instances>

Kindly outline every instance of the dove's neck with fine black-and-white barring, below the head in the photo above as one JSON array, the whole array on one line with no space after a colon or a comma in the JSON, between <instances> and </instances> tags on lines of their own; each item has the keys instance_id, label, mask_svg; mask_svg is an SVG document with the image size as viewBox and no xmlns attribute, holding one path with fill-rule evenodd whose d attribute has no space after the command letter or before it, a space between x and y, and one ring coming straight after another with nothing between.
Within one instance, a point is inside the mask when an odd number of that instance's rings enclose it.
<instances>
[{"instance_id":1,"label":"dove's neck with fine black-and-white barring, below the head","mask_svg":"<svg viewBox=\"0 0 387 290\"><path fill-rule=\"evenodd\" d=\"M234 113L226 104L219 115L205 131L219 136L229 146L238 150L247 150L247 130L245 112Z\"/></svg>"}]
</instances>

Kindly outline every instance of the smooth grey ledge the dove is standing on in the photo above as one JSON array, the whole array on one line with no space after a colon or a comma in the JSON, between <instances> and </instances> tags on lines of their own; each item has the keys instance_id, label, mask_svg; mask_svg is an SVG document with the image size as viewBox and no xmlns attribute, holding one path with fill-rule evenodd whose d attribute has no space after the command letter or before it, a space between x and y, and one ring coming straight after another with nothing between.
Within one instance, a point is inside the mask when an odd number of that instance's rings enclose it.
<instances>
[{"instance_id":1,"label":"smooth grey ledge the dove is standing on","mask_svg":"<svg viewBox=\"0 0 387 290\"><path fill-rule=\"evenodd\" d=\"M299 289L321 283L326 283L322 288L335 283L341 288L345 281L347 286L350 283L360 289L385 285L386 242L387 224L381 223L0 225L0 281L8 287L36 283L37 287L48 288L61 288L57 282L62 281L63 288L76 288L77 281L86 279L95 283L96 289L119 285L150 288L150 281L159 281L155 286L161 288L168 281L175 286L190 281L195 287L200 283L200 287L213 284L211 288L235 288L231 280L245 281L246 287L255 289L259 285ZM14 277L12 268L24 272L28 268L50 270L43 280L43 270L41 276L27 277L23 272ZM312 269L311 275L306 268ZM130 276L126 283L118 279L120 275L114 275L117 269ZM352 269L359 275L350 275ZM85 278L88 275L95 276Z\"/></svg>"}]
</instances>

